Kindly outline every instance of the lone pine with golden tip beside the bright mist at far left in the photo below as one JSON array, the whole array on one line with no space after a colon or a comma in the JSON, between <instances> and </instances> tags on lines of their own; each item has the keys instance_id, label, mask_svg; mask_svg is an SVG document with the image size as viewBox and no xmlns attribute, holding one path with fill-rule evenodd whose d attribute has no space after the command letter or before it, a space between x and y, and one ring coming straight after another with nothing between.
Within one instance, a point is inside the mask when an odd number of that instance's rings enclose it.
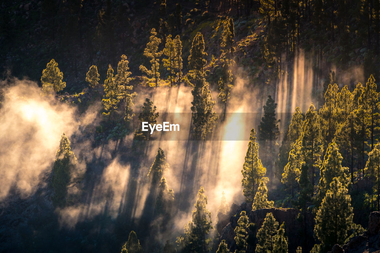
<instances>
[{"instance_id":1,"label":"lone pine with golden tip beside the bright mist at far left","mask_svg":"<svg viewBox=\"0 0 380 253\"><path fill-rule=\"evenodd\" d=\"M70 183L70 174L76 164L76 157L71 151L70 141L63 133L59 141L59 149L55 153L55 161L52 173L52 185L54 196L52 198L55 207L65 205L67 186Z\"/></svg>"}]
</instances>

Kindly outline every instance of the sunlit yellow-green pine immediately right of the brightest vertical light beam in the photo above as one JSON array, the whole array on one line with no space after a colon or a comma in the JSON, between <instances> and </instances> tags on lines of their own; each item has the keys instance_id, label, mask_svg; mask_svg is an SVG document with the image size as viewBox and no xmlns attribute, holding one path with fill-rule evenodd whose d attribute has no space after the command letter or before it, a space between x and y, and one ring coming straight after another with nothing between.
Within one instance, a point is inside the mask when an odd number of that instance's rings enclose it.
<instances>
[{"instance_id":1,"label":"sunlit yellow-green pine immediately right of the brightest vertical light beam","mask_svg":"<svg viewBox=\"0 0 380 253\"><path fill-rule=\"evenodd\" d=\"M243 194L247 202L253 201L260 180L265 176L266 168L263 167L261 160L258 158L259 145L256 143L256 132L252 128L247 153L244 158L243 169L241 171L243 179Z\"/></svg>"}]
</instances>

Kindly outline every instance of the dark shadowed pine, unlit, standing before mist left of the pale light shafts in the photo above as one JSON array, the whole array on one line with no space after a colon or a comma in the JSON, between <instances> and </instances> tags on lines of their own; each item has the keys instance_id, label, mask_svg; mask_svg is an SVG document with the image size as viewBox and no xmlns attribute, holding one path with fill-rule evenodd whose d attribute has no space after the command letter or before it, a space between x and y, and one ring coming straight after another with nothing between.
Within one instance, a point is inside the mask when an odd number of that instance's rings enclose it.
<instances>
[{"instance_id":1,"label":"dark shadowed pine, unlit, standing before mist left of the pale light shafts","mask_svg":"<svg viewBox=\"0 0 380 253\"><path fill-rule=\"evenodd\" d=\"M265 157L263 161L265 161L265 163L267 164L266 166L269 169L269 181L272 182L274 173L271 161L272 155L274 155L275 153L274 147L277 146L276 140L280 134L278 125L280 120L276 119L275 111L277 108L277 104L274 103L274 100L270 95L268 96L268 99L266 100L266 103L263 106L263 108L264 117L261 118L260 125L258 126L258 139L263 144L263 157Z\"/></svg>"}]
</instances>

